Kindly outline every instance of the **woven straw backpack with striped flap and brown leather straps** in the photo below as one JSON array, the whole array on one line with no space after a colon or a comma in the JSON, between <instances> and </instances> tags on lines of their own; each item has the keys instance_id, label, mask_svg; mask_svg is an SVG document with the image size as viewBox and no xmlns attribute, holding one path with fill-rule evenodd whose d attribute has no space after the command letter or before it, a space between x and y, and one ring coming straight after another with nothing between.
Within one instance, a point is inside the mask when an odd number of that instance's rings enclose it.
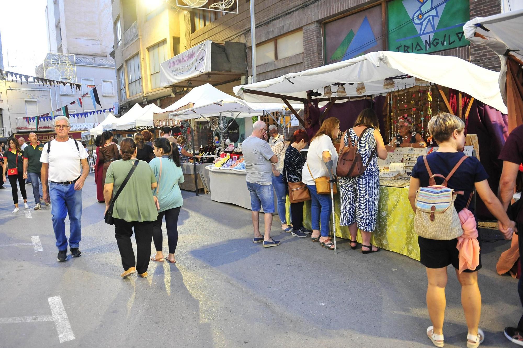
<instances>
[{"instance_id":1,"label":"woven straw backpack with striped flap and brown leather straps","mask_svg":"<svg viewBox=\"0 0 523 348\"><path fill-rule=\"evenodd\" d=\"M427 239L451 240L463 235L458 212L454 208L456 195L463 194L463 191L449 189L447 183L467 157L463 156L449 175L444 177L441 174L433 175L427 163L427 156L423 156L429 175L429 186L419 188L416 192L414 230L419 236ZM441 185L437 185L435 177L445 180Z\"/></svg>"}]
</instances>

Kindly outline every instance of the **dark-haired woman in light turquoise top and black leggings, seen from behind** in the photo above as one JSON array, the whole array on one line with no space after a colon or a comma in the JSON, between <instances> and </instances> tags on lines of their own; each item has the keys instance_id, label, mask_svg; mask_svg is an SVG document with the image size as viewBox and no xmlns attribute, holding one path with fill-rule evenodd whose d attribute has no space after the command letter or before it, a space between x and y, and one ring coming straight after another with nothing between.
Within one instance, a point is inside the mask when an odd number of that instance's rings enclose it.
<instances>
[{"instance_id":1,"label":"dark-haired woman in light turquoise top and black leggings, seen from behind","mask_svg":"<svg viewBox=\"0 0 523 348\"><path fill-rule=\"evenodd\" d=\"M166 155L170 154L170 155ZM154 141L154 155L149 165L158 181L158 187L153 194L160 203L160 214L153 224L153 240L156 247L156 255L151 257L153 261L165 261L162 252L163 235L162 220L165 216L167 227L167 240L169 243L169 255L167 261L175 263L174 252L178 244L178 215L184 204L181 197L179 184L184 182L184 173L181 171L178 151L172 151L172 147L166 138L157 138Z\"/></svg>"}]
</instances>

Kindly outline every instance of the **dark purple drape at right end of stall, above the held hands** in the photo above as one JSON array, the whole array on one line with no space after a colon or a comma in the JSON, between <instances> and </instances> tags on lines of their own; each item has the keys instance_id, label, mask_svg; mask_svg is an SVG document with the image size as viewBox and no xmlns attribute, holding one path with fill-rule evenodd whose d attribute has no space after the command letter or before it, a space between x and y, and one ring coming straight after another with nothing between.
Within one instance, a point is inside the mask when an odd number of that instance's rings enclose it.
<instances>
[{"instance_id":1,"label":"dark purple drape at right end of stall, above the held hands","mask_svg":"<svg viewBox=\"0 0 523 348\"><path fill-rule=\"evenodd\" d=\"M481 101L474 100L466 126L468 134L477 134L480 162L488 174L488 184L497 194L503 169L503 161L497 158L508 137L507 115ZM494 219L479 197L476 197L476 215L479 219Z\"/></svg>"}]
</instances>

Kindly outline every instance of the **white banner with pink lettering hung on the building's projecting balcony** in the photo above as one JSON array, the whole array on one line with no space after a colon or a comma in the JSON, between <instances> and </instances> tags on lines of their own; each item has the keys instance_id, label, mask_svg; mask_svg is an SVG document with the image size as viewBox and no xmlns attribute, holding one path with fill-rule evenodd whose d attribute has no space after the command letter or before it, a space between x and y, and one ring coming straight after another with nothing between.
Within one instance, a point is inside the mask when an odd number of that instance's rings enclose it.
<instances>
[{"instance_id":1,"label":"white banner with pink lettering hung on the building's projecting balcony","mask_svg":"<svg viewBox=\"0 0 523 348\"><path fill-rule=\"evenodd\" d=\"M211 71L211 40L160 64L160 86L168 87Z\"/></svg>"}]
</instances>

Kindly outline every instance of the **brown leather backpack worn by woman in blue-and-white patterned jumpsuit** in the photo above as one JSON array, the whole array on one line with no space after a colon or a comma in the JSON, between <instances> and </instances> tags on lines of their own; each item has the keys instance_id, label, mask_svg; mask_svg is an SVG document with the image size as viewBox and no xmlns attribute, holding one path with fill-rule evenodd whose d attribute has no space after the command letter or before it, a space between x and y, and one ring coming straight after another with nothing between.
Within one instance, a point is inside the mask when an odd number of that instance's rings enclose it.
<instances>
[{"instance_id":1,"label":"brown leather backpack worn by woman in blue-and-white patterned jumpsuit","mask_svg":"<svg viewBox=\"0 0 523 348\"><path fill-rule=\"evenodd\" d=\"M363 130L363 132L361 132L358 143L361 142L363 135L369 129L373 128L367 127L365 130ZM348 147L345 147L345 134L347 134L349 138ZM358 153L358 143L356 143L356 145L353 145L353 143L351 142L350 135L348 134L348 130L346 130L344 135L342 136L342 144L344 145L344 147L339 152L338 165L336 166L336 176L354 178L362 175L365 169L367 169L367 166L372 160L374 153L376 153L377 147L374 147L374 149L372 150L372 153L370 154L369 159L367 160L367 164L363 165L361 155Z\"/></svg>"}]
</instances>

